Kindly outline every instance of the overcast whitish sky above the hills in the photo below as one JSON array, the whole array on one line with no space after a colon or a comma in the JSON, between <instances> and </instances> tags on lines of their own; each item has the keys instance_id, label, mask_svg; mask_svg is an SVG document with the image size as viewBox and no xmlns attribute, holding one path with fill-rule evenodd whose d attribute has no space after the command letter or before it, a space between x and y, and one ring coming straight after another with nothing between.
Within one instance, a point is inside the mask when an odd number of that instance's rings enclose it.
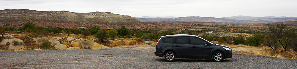
<instances>
[{"instance_id":1,"label":"overcast whitish sky above the hills","mask_svg":"<svg viewBox=\"0 0 297 69\"><path fill-rule=\"evenodd\" d=\"M0 0L0 10L111 12L141 16L294 16L297 0Z\"/></svg>"}]
</instances>

